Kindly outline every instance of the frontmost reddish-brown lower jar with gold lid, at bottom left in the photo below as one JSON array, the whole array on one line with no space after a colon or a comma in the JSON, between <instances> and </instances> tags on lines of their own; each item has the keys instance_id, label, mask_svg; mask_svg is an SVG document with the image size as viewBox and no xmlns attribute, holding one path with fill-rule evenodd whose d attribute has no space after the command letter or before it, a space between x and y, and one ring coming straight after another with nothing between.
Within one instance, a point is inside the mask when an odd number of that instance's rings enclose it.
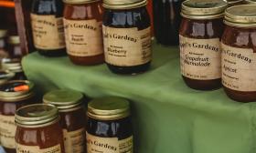
<instances>
[{"instance_id":1,"label":"frontmost reddish-brown lower jar with gold lid, at bottom left","mask_svg":"<svg viewBox=\"0 0 256 153\"><path fill-rule=\"evenodd\" d=\"M16 152L65 153L58 108L35 104L16 110Z\"/></svg>"}]
</instances>

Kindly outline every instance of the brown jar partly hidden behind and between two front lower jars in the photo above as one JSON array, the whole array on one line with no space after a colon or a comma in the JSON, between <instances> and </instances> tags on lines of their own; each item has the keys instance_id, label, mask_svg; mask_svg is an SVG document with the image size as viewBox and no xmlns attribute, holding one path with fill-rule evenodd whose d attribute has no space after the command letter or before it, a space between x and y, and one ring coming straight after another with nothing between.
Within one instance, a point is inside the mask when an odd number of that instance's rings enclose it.
<instances>
[{"instance_id":1,"label":"brown jar partly hidden behind and between two front lower jars","mask_svg":"<svg viewBox=\"0 0 256 153\"><path fill-rule=\"evenodd\" d=\"M61 89L48 92L43 101L59 108L60 125L67 153L86 153L86 111L80 92Z\"/></svg>"}]
</instances>

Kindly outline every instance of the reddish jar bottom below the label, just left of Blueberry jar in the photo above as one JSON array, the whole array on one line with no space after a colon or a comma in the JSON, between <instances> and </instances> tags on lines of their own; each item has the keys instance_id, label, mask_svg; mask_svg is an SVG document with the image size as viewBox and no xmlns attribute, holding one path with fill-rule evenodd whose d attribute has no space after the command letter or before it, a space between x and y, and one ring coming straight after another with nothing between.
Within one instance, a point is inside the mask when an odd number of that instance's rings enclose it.
<instances>
[{"instance_id":1,"label":"reddish jar bottom below the label, just left of Blueberry jar","mask_svg":"<svg viewBox=\"0 0 256 153\"><path fill-rule=\"evenodd\" d=\"M95 66L104 63L104 55L98 56L70 56L70 61L78 66Z\"/></svg>"}]
</instances>

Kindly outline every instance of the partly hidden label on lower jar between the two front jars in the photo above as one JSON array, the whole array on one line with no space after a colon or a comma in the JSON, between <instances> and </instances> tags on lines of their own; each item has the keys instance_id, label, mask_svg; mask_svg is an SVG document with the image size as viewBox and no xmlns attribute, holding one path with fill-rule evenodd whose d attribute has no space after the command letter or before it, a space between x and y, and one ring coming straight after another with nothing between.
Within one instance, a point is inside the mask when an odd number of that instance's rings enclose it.
<instances>
[{"instance_id":1,"label":"partly hidden label on lower jar between the two front jars","mask_svg":"<svg viewBox=\"0 0 256 153\"><path fill-rule=\"evenodd\" d=\"M85 152L85 129L68 132L63 129L65 152L83 153Z\"/></svg>"}]
</instances>

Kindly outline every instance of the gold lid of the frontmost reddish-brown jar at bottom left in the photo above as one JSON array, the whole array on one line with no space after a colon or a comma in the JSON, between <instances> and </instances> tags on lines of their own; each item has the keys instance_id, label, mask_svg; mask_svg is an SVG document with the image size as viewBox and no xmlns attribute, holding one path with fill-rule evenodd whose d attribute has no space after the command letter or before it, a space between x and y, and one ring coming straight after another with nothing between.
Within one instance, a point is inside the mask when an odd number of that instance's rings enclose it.
<instances>
[{"instance_id":1,"label":"gold lid of the frontmost reddish-brown jar at bottom left","mask_svg":"<svg viewBox=\"0 0 256 153\"><path fill-rule=\"evenodd\" d=\"M34 104L17 109L15 117L19 127L40 128L59 121L59 111L53 105Z\"/></svg>"}]
</instances>

